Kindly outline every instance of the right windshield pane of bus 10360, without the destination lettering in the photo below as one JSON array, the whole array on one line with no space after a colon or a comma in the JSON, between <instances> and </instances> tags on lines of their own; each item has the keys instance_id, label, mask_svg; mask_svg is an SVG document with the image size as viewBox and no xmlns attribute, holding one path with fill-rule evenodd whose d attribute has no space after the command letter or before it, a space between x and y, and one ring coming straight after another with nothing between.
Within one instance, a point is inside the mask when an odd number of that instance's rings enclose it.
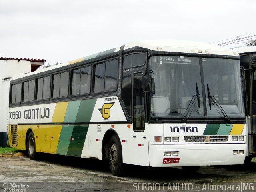
<instances>
[{"instance_id":1,"label":"right windshield pane of bus 10360, without the destination lettering","mask_svg":"<svg viewBox=\"0 0 256 192\"><path fill-rule=\"evenodd\" d=\"M244 117L238 60L202 58L208 116L220 116L219 104L229 117ZM215 101L215 102L214 102Z\"/></svg>"}]
</instances>

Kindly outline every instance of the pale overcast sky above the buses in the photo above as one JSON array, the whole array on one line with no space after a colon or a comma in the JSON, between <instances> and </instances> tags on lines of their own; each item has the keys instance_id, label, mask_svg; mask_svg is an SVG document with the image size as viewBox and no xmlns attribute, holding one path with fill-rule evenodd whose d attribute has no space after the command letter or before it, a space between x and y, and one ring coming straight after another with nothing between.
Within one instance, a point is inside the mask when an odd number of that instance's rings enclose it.
<instances>
[{"instance_id":1,"label":"pale overcast sky above the buses","mask_svg":"<svg viewBox=\"0 0 256 192\"><path fill-rule=\"evenodd\" d=\"M256 35L255 8L255 0L0 0L0 57L53 65L138 40Z\"/></svg>"}]
</instances>

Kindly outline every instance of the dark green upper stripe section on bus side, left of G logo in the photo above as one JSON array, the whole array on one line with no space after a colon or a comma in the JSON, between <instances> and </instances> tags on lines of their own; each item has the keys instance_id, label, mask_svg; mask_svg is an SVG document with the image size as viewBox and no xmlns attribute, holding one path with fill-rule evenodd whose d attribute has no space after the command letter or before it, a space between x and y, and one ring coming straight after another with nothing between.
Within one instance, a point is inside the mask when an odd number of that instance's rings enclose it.
<instances>
[{"instance_id":1,"label":"dark green upper stripe section on bus side, left of G logo","mask_svg":"<svg viewBox=\"0 0 256 192\"><path fill-rule=\"evenodd\" d=\"M97 99L85 99L81 101L76 122L90 122L96 101Z\"/></svg>"}]
</instances>

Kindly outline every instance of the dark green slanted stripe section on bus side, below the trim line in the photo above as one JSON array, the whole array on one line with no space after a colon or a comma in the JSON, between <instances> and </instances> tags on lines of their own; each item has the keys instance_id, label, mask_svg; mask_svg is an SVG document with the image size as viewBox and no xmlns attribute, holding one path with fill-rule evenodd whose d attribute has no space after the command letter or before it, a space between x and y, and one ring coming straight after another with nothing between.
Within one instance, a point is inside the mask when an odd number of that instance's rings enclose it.
<instances>
[{"instance_id":1,"label":"dark green slanted stripe section on bus side, below the trim line","mask_svg":"<svg viewBox=\"0 0 256 192\"><path fill-rule=\"evenodd\" d=\"M70 125L71 126L71 125ZM67 155L70 156L81 156L82 150L84 148L84 141L86 138L86 134L88 131L88 125L75 125L70 144L68 146L68 153Z\"/></svg>"}]
</instances>

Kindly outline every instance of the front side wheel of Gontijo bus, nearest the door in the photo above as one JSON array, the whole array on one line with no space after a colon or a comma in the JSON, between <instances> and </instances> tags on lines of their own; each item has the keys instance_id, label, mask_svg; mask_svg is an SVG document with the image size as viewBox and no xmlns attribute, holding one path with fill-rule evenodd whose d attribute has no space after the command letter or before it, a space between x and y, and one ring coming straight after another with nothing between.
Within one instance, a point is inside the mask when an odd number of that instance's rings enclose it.
<instances>
[{"instance_id":1,"label":"front side wheel of Gontijo bus, nearest the door","mask_svg":"<svg viewBox=\"0 0 256 192\"><path fill-rule=\"evenodd\" d=\"M110 138L108 146L108 162L114 176L121 176L124 173L122 146L116 135L113 135Z\"/></svg>"}]
</instances>

